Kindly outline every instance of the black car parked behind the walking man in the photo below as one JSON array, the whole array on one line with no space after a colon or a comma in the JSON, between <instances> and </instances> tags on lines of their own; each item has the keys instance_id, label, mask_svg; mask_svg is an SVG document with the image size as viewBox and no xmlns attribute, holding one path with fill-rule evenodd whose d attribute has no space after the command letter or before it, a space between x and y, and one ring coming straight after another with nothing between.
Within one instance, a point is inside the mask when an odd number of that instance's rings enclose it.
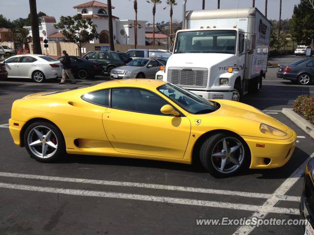
<instances>
[{"instance_id":1,"label":"black car parked behind the walking man","mask_svg":"<svg viewBox=\"0 0 314 235\"><path fill-rule=\"evenodd\" d=\"M100 63L88 61L79 56L70 56L70 59L71 71L76 78L87 79L102 75L103 67ZM62 57L59 57L58 60L62 60Z\"/></svg>"}]
</instances>

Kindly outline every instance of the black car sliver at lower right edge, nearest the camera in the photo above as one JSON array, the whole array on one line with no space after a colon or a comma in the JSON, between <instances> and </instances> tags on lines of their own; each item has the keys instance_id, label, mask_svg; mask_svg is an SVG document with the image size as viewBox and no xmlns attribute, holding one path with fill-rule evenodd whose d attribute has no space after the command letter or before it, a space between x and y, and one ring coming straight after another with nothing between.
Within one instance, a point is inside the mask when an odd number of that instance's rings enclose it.
<instances>
[{"instance_id":1,"label":"black car sliver at lower right edge, nearest the camera","mask_svg":"<svg viewBox=\"0 0 314 235\"><path fill-rule=\"evenodd\" d=\"M314 233L314 158L305 166L304 185L300 203L300 214L308 221L305 234Z\"/></svg>"}]
</instances>

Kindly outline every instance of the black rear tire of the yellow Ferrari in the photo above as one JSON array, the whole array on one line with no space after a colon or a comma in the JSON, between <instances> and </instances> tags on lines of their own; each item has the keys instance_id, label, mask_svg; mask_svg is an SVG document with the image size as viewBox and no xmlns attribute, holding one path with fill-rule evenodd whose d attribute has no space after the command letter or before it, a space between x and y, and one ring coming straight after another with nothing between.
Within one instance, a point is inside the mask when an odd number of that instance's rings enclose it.
<instances>
[{"instance_id":1,"label":"black rear tire of the yellow Ferrari","mask_svg":"<svg viewBox=\"0 0 314 235\"><path fill-rule=\"evenodd\" d=\"M36 131L34 131L35 128L39 133L43 134L44 136L39 137L38 134L36 134ZM46 131L48 130L51 130L52 132L50 137L47 136L47 139L45 139L45 135L48 134L48 132L46 133ZM41 143L29 146L30 143L34 143L35 141L40 140L42 140ZM29 155L38 162L42 163L55 162L57 159L63 157L66 154L65 141L61 131L59 130L59 128L57 128L55 125L49 122L39 121L30 124L26 128L24 133L24 143ZM51 147L51 143L53 143L56 148ZM43 144L46 145L47 151L44 155L42 155L44 157L40 157L39 153L43 149ZM46 154L47 156L45 156Z\"/></svg>"}]
</instances>

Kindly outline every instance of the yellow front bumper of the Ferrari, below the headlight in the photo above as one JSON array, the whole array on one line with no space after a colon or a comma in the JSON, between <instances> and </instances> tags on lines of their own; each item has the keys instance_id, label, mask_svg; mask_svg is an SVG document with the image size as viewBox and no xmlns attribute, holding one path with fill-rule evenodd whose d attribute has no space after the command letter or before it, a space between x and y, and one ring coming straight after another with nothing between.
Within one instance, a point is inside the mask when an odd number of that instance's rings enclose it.
<instances>
[{"instance_id":1,"label":"yellow front bumper of the Ferrari, below the headlight","mask_svg":"<svg viewBox=\"0 0 314 235\"><path fill-rule=\"evenodd\" d=\"M291 158L296 144L296 133L287 140L242 136L251 150L252 169L277 168L285 165ZM264 144L264 147L260 147Z\"/></svg>"}]
</instances>

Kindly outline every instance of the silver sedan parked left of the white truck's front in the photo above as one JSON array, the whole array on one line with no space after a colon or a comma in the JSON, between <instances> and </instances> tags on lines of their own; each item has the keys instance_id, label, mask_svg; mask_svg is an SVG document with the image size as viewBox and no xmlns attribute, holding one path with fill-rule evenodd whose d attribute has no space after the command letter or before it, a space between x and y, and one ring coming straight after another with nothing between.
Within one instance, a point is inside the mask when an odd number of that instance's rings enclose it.
<instances>
[{"instance_id":1,"label":"silver sedan parked left of the white truck's front","mask_svg":"<svg viewBox=\"0 0 314 235\"><path fill-rule=\"evenodd\" d=\"M157 71L160 70L160 66L166 65L164 60L158 59L158 61L152 61L149 58L137 58L126 66L113 69L110 77L113 79L155 78Z\"/></svg>"}]
</instances>

